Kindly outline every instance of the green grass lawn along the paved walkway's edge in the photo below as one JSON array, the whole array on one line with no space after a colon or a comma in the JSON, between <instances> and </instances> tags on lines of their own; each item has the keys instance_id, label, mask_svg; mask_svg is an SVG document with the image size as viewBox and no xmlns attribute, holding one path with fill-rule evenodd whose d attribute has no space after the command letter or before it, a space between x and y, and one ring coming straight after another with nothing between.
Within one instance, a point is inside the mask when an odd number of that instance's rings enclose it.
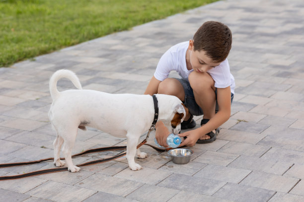
<instances>
[{"instance_id":1,"label":"green grass lawn along the paved walkway's edge","mask_svg":"<svg viewBox=\"0 0 304 202\"><path fill-rule=\"evenodd\" d=\"M0 67L216 0L0 0Z\"/></svg>"}]
</instances>

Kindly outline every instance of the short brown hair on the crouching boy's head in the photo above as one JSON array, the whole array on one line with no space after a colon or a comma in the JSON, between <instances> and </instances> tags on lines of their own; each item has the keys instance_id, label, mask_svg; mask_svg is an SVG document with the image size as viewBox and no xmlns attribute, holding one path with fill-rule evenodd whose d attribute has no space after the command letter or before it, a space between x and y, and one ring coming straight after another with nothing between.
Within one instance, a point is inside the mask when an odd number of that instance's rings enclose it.
<instances>
[{"instance_id":1,"label":"short brown hair on the crouching boy's head","mask_svg":"<svg viewBox=\"0 0 304 202\"><path fill-rule=\"evenodd\" d=\"M221 22L205 22L194 34L194 50L204 50L214 62L224 61L231 49L232 34Z\"/></svg>"}]
</instances>

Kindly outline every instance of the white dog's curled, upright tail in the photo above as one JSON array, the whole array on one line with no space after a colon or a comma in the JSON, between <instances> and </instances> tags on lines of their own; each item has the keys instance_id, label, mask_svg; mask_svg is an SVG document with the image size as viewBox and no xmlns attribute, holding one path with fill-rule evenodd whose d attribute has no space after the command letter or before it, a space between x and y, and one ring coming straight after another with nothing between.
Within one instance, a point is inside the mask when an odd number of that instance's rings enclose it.
<instances>
[{"instance_id":1,"label":"white dog's curled, upright tail","mask_svg":"<svg viewBox=\"0 0 304 202\"><path fill-rule=\"evenodd\" d=\"M73 71L67 69L58 70L52 75L50 79L50 94L53 100L59 96L60 92L57 90L57 82L61 78L67 78L71 80L77 89L82 89L80 81Z\"/></svg>"}]
</instances>

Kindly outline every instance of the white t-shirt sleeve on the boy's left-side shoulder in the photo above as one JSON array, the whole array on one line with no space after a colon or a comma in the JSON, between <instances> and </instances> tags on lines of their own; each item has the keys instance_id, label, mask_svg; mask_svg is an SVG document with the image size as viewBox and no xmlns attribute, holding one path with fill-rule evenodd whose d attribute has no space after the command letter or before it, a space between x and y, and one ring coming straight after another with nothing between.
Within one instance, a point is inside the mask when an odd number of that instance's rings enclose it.
<instances>
[{"instance_id":1,"label":"white t-shirt sleeve on the boy's left-side shoulder","mask_svg":"<svg viewBox=\"0 0 304 202\"><path fill-rule=\"evenodd\" d=\"M169 49L160 57L154 72L154 77L159 81L163 81L168 78L170 71L174 70L174 67L175 60L173 59L173 55Z\"/></svg>"}]
</instances>

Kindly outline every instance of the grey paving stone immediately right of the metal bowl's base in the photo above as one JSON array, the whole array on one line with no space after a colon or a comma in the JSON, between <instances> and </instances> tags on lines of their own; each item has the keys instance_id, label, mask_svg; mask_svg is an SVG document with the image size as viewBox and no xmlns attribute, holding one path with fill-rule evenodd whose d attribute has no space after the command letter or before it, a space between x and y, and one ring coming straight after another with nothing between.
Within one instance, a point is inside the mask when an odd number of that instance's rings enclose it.
<instances>
[{"instance_id":1,"label":"grey paving stone immediately right of the metal bowl's base","mask_svg":"<svg viewBox=\"0 0 304 202\"><path fill-rule=\"evenodd\" d=\"M194 161L226 166L237 157L238 155L235 154L207 151L195 158Z\"/></svg>"}]
</instances>

